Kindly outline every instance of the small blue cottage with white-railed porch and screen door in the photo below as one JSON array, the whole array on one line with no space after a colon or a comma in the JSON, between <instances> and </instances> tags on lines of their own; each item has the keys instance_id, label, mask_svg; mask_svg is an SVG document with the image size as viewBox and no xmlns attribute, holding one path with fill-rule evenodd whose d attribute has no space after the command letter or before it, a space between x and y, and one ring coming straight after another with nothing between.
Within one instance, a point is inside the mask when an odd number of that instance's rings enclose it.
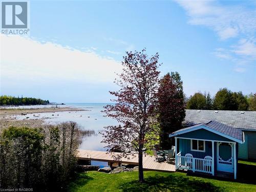
<instances>
[{"instance_id":1,"label":"small blue cottage with white-railed porch and screen door","mask_svg":"<svg viewBox=\"0 0 256 192\"><path fill-rule=\"evenodd\" d=\"M175 138L176 169L237 178L238 145L245 142L242 130L209 121L186 127L169 137Z\"/></svg>"}]
</instances>

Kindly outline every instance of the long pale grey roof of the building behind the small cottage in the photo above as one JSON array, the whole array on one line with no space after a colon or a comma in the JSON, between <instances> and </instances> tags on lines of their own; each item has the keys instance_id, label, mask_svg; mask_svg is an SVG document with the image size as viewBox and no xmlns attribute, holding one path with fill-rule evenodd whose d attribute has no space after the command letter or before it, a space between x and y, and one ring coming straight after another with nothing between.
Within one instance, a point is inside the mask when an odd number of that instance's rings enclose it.
<instances>
[{"instance_id":1,"label":"long pale grey roof of the building behind the small cottage","mask_svg":"<svg viewBox=\"0 0 256 192\"><path fill-rule=\"evenodd\" d=\"M183 124L191 126L210 120L235 128L256 130L256 111L186 110Z\"/></svg>"}]
</instances>

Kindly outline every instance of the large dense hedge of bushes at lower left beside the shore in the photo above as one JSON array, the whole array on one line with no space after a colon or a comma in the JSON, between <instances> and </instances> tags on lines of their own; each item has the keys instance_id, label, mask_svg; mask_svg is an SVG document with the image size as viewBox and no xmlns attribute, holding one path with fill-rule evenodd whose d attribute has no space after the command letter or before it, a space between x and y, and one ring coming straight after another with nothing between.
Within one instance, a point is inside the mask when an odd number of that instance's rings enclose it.
<instances>
[{"instance_id":1,"label":"large dense hedge of bushes at lower left beside the shore","mask_svg":"<svg viewBox=\"0 0 256 192\"><path fill-rule=\"evenodd\" d=\"M1 130L0 188L65 188L75 171L77 148L88 134L72 121Z\"/></svg>"}]
</instances>

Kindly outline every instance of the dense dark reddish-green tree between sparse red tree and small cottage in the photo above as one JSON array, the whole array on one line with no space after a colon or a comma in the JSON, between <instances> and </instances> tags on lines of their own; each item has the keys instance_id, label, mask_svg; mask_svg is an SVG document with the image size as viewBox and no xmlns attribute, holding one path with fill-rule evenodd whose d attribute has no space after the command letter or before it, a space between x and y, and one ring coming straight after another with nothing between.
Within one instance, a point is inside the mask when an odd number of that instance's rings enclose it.
<instances>
[{"instance_id":1,"label":"dense dark reddish-green tree between sparse red tree and small cottage","mask_svg":"<svg viewBox=\"0 0 256 192\"><path fill-rule=\"evenodd\" d=\"M183 82L180 74L167 73L160 80L158 92L160 147L166 150L172 145L169 134L181 129L185 118Z\"/></svg>"}]
</instances>

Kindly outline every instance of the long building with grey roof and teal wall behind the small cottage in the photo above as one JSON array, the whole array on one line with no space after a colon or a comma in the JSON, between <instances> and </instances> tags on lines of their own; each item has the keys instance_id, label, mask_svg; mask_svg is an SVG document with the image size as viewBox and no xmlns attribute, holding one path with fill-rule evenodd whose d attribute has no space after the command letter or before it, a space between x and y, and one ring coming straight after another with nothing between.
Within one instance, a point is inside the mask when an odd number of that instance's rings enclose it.
<instances>
[{"instance_id":1,"label":"long building with grey roof and teal wall behind the small cottage","mask_svg":"<svg viewBox=\"0 0 256 192\"><path fill-rule=\"evenodd\" d=\"M186 110L183 125L193 126L210 120L241 130L244 133L245 142L238 143L238 158L256 160L256 111Z\"/></svg>"}]
</instances>

